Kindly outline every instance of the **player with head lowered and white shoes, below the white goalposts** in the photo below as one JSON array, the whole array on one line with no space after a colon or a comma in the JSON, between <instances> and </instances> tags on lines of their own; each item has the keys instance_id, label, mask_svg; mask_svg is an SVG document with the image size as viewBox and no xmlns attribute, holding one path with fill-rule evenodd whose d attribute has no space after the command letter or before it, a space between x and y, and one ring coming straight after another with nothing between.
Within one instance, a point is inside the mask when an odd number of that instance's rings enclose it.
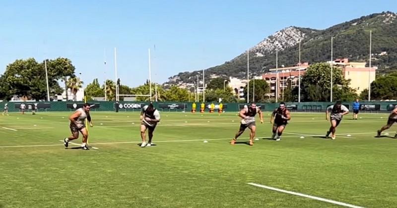
<instances>
[{"instance_id":1,"label":"player with head lowered and white shoes, below the white goalposts","mask_svg":"<svg viewBox=\"0 0 397 208\"><path fill-rule=\"evenodd\" d=\"M160 122L160 112L154 108L153 104L143 106L140 112L140 137L142 138L142 144L140 147L150 147L153 145L153 131ZM149 141L146 143L146 129L149 133Z\"/></svg>"}]
</instances>

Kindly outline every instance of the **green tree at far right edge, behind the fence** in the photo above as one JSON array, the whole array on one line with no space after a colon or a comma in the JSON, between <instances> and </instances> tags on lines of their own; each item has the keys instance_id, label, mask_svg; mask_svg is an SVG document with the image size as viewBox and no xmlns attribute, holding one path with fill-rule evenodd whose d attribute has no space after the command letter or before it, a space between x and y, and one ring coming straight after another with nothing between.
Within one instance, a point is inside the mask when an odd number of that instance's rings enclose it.
<instances>
[{"instance_id":1,"label":"green tree at far right edge, behind the fence","mask_svg":"<svg viewBox=\"0 0 397 208\"><path fill-rule=\"evenodd\" d=\"M368 89L360 94L361 99L368 100ZM397 99L397 72L378 76L371 83L371 100Z\"/></svg>"}]
</instances>

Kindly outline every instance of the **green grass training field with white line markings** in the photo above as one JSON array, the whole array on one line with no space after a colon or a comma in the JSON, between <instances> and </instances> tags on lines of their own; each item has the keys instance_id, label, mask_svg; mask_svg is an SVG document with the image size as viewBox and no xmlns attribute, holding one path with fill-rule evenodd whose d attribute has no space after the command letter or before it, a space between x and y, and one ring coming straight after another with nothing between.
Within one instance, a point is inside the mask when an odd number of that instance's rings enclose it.
<instances>
[{"instance_id":1,"label":"green grass training field with white line markings","mask_svg":"<svg viewBox=\"0 0 397 208\"><path fill-rule=\"evenodd\" d=\"M0 208L339 206L249 183L333 203L397 206L397 140L390 138L397 125L374 138L385 113L346 115L332 141L322 138L325 113L292 112L276 142L265 112L255 145L245 143L246 131L232 146L236 113L161 112L156 146L140 148L137 112L92 111L89 142L97 150L89 151L60 142L70 134L69 114L0 115Z\"/></svg>"}]
</instances>

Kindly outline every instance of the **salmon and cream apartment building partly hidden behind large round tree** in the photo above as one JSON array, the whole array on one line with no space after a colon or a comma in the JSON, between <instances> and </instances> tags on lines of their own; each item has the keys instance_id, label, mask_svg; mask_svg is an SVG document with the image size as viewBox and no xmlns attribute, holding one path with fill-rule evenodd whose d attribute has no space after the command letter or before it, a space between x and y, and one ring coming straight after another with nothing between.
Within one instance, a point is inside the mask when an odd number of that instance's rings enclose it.
<instances>
[{"instance_id":1,"label":"salmon and cream apartment building partly hidden behind large round tree","mask_svg":"<svg viewBox=\"0 0 397 208\"><path fill-rule=\"evenodd\" d=\"M331 61L328 61L331 64ZM377 67L365 67L366 62L349 62L348 58L335 59L332 65L340 67L345 79L350 79L349 87L360 94L364 89L368 89L368 83L375 81ZM276 93L276 75L278 74L278 98L283 98L283 92L287 88L288 81L291 81L291 87L299 85L299 71L301 76L306 73L309 63L296 64L289 67L270 69L268 73L263 74L263 79L269 84L269 98L275 98Z\"/></svg>"}]
</instances>

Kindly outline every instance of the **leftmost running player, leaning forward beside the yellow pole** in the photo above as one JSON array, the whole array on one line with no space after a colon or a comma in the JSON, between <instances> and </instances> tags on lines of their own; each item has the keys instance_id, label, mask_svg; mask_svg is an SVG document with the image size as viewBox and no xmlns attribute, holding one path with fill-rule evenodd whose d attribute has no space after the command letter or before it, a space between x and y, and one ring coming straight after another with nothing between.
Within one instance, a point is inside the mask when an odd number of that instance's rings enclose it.
<instances>
[{"instance_id":1,"label":"leftmost running player, leaning forward beside the yellow pole","mask_svg":"<svg viewBox=\"0 0 397 208\"><path fill-rule=\"evenodd\" d=\"M83 107L78 108L76 111L74 111L72 115L70 115L69 127L71 131L71 136L64 139L64 145L66 148L71 140L78 139L78 132L81 132L81 134L83 135L81 148L83 150L89 150L87 147L88 132L85 128L84 121L85 119L87 119L90 123L90 126L93 127L91 122L90 109L91 106L89 104L83 104Z\"/></svg>"}]
</instances>

